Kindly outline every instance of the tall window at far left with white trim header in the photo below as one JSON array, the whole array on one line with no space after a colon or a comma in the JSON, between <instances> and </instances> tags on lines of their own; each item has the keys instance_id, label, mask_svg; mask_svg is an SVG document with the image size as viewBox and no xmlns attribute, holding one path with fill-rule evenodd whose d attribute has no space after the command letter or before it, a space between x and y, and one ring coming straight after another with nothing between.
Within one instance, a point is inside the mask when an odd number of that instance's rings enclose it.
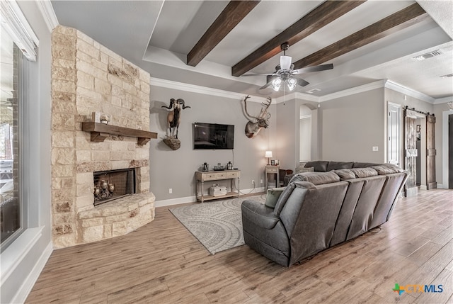
<instances>
[{"instance_id":1,"label":"tall window at far left with white trim header","mask_svg":"<svg viewBox=\"0 0 453 304\"><path fill-rule=\"evenodd\" d=\"M27 228L28 60L38 38L15 1L0 2L0 247Z\"/></svg>"}]
</instances>

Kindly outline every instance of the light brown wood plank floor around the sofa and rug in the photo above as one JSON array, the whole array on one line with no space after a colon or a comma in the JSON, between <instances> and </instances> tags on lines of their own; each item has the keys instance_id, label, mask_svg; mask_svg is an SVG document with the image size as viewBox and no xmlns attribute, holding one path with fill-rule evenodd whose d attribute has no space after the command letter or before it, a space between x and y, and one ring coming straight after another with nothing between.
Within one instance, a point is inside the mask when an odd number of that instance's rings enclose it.
<instances>
[{"instance_id":1,"label":"light brown wood plank floor around the sofa and rug","mask_svg":"<svg viewBox=\"0 0 453 304\"><path fill-rule=\"evenodd\" d=\"M55 250L26 303L453 303L452 220L453 191L421 191L382 230L287 269L246 245L210 255L157 208L129 235Z\"/></svg>"}]
</instances>

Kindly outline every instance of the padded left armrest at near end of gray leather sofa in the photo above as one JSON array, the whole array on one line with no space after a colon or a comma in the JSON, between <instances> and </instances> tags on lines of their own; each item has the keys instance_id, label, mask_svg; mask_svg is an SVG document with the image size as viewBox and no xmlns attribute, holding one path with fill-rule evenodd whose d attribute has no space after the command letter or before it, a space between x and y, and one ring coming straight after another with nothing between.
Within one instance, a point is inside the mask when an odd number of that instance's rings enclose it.
<instances>
[{"instance_id":1,"label":"padded left armrest at near end of gray leather sofa","mask_svg":"<svg viewBox=\"0 0 453 304\"><path fill-rule=\"evenodd\" d=\"M242 220L248 220L264 229L273 229L280 221L280 218L274 214L273 208L269 208L258 201L243 201L241 210Z\"/></svg>"}]
</instances>

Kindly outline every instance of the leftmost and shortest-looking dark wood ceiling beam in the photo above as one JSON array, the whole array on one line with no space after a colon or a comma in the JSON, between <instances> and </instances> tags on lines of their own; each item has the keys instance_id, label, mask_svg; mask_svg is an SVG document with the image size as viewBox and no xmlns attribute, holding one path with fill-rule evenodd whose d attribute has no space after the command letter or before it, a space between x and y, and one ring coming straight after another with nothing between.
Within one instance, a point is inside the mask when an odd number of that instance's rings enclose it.
<instances>
[{"instance_id":1,"label":"leftmost and shortest-looking dark wood ceiling beam","mask_svg":"<svg viewBox=\"0 0 453 304\"><path fill-rule=\"evenodd\" d=\"M260 1L230 1L202 38L187 55L187 64L195 67Z\"/></svg>"}]
</instances>

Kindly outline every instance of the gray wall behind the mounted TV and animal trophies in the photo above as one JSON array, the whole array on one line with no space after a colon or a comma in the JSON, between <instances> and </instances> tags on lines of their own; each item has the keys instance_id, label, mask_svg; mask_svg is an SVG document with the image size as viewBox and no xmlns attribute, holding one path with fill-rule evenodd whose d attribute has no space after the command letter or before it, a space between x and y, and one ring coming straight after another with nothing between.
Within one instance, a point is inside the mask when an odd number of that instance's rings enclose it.
<instances>
[{"instance_id":1,"label":"gray wall behind the mounted TV and animal trophies","mask_svg":"<svg viewBox=\"0 0 453 304\"><path fill-rule=\"evenodd\" d=\"M245 96L244 96L245 97ZM178 138L179 150L171 150L162 139L166 135L166 108L170 98L183 98L186 108L182 111ZM246 137L244 128L248 120L243 115L241 98L210 96L151 86L150 130L158 133L157 140L150 142L151 191L156 201L180 199L180 202L191 201L195 196L195 171L200 170L204 162L210 169L218 162L226 165L231 161L234 167L241 170L240 188L248 193L253 188L263 187L264 166L267 164L264 154L273 150L271 145L275 124L275 105L270 106L270 128L260 130L252 139ZM243 98L242 98L243 99ZM261 104L248 102L248 113L258 115ZM219 123L234 125L234 150L193 150L193 123ZM274 154L274 159L278 158ZM215 182L217 184L217 181ZM214 184L214 183L212 183ZM227 185L228 182L219 182ZM205 185L206 186L206 185ZM173 193L168 193L172 188ZM159 203L156 204L159 206Z\"/></svg>"}]
</instances>

